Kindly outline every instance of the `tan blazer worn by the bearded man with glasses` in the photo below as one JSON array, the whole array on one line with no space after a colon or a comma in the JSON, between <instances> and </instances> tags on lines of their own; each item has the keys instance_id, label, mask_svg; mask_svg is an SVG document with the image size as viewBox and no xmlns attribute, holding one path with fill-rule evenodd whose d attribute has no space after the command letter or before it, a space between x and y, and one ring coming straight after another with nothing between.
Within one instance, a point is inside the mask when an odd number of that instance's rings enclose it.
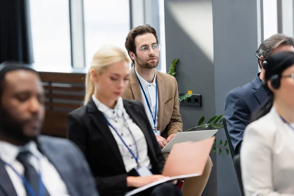
<instances>
[{"instance_id":1,"label":"tan blazer worn by the bearded man with glasses","mask_svg":"<svg viewBox=\"0 0 294 196\"><path fill-rule=\"evenodd\" d=\"M172 133L183 130L182 117L180 114L180 102L176 79L167 74L156 71L158 91L158 123L157 130L161 136L167 138ZM142 94L135 66L130 70L130 83L124 91L122 98L137 99L142 101Z\"/></svg>"}]
</instances>

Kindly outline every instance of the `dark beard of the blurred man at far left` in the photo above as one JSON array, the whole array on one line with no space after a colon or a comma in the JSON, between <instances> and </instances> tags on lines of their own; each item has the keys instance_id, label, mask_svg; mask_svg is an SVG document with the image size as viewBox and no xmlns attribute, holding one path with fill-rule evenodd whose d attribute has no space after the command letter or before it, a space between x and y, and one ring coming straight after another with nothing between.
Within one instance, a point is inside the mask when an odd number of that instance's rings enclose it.
<instances>
[{"instance_id":1,"label":"dark beard of the blurred man at far left","mask_svg":"<svg viewBox=\"0 0 294 196\"><path fill-rule=\"evenodd\" d=\"M24 131L25 122L20 122L13 118L11 114L0 106L0 132L9 139L26 144L36 140L37 136L27 136Z\"/></svg>"}]
</instances>

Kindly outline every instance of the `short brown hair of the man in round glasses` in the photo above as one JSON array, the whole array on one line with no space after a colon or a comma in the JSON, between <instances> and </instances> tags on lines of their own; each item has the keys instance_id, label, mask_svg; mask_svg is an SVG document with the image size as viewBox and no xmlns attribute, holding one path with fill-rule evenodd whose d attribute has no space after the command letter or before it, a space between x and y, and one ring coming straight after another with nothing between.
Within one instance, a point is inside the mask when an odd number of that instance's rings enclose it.
<instances>
[{"instance_id":1,"label":"short brown hair of the man in round glasses","mask_svg":"<svg viewBox=\"0 0 294 196\"><path fill-rule=\"evenodd\" d=\"M136 46L135 46L135 38L138 35L143 35L145 33L152 33L154 35L154 37L156 38L156 43L158 44L158 38L157 38L155 28L153 28L150 25L140 25L140 26L134 27L127 34L127 36L125 38L125 43L124 43L125 49L127 50L127 53L129 56L130 56L130 51L133 52L135 55L137 55L136 54ZM133 64L135 64L134 60L133 59L131 59L131 60L132 60Z\"/></svg>"}]
</instances>

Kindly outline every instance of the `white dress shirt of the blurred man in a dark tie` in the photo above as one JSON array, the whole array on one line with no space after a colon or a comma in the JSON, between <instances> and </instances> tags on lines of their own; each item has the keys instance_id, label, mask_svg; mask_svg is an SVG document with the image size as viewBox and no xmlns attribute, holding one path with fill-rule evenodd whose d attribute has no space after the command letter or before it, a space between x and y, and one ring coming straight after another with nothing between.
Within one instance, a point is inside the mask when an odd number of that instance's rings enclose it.
<instances>
[{"instance_id":1,"label":"white dress shirt of the blurred man in a dark tie","mask_svg":"<svg viewBox=\"0 0 294 196\"><path fill-rule=\"evenodd\" d=\"M29 142L25 145L25 147L19 147L0 141L0 158L4 162L10 164L19 174L24 175L24 166L16 159L19 152L23 148L32 153L32 155L29 155L29 163L36 169L37 172L41 172L42 181L50 196L69 196L67 187L61 179L59 173L49 160L38 150L35 142ZM40 163L38 163L37 158L40 160ZM5 169L12 181L17 195L26 196L25 186L22 179L8 165L5 165Z\"/></svg>"}]
</instances>

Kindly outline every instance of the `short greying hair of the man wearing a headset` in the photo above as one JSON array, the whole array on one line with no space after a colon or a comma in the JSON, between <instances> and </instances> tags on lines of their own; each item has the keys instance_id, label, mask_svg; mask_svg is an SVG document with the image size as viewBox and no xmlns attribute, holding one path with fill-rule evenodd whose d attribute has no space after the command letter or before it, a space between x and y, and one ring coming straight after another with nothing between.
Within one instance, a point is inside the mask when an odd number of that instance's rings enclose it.
<instances>
[{"instance_id":1,"label":"short greying hair of the man wearing a headset","mask_svg":"<svg viewBox=\"0 0 294 196\"><path fill-rule=\"evenodd\" d=\"M263 41L259 46L256 54L260 56L264 56L265 60L269 59L271 56L271 52L279 46L293 46L294 47L294 39L292 37L286 36L282 33L276 33L270 36L268 39ZM258 59L259 68L261 68L260 60Z\"/></svg>"}]
</instances>

